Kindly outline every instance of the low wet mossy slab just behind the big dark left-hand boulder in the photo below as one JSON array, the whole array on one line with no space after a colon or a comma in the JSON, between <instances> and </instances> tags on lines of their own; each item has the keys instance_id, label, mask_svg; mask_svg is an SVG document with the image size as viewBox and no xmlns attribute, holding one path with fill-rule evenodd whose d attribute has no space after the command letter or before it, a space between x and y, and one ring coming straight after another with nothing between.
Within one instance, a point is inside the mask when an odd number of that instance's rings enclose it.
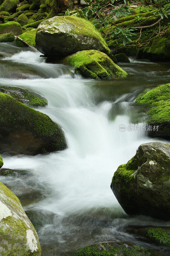
<instances>
[{"instance_id":1,"label":"low wet mossy slab just behind the big dark left-hand boulder","mask_svg":"<svg viewBox=\"0 0 170 256\"><path fill-rule=\"evenodd\" d=\"M48 104L39 94L18 87L0 85L0 92L10 95L27 106L45 107Z\"/></svg>"}]
</instances>

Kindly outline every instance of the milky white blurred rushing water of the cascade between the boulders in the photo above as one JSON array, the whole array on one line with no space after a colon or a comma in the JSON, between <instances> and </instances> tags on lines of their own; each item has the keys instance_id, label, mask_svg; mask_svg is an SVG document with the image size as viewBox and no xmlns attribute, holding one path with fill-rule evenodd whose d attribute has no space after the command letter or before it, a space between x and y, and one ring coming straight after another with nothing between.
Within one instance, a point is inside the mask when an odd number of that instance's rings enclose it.
<instances>
[{"instance_id":1,"label":"milky white blurred rushing water of the cascade between the boulders","mask_svg":"<svg viewBox=\"0 0 170 256\"><path fill-rule=\"evenodd\" d=\"M123 102L122 95L115 100L120 101L118 106L121 111L116 112L117 105L113 101L104 100L97 104L93 100L93 80L74 76L73 71L63 65L45 63L44 58L39 55L37 52L24 51L6 57L7 63L12 62L12 65L18 65L18 68L29 65L33 75L27 79L13 79L4 75L5 69L1 69L3 77L0 84L29 89L46 98L48 106L38 110L61 125L68 148L47 155L4 156L4 168L31 170L33 178L15 178L12 191L17 196L22 196L36 190L33 186L37 187L36 191L39 192L36 193L42 193L43 196L38 200L34 200L33 196L32 200L24 205L24 209L54 213L58 218L57 227L45 223L39 234L40 241L47 235L47 231L51 230L53 243L65 246L64 241L69 243L64 237L65 233L72 232L75 241L78 241L76 236L80 235L80 230L76 233L76 228L73 231L67 225L66 231L65 226L62 226L65 216L87 215L90 211L91 215L95 215L100 209L107 209L108 212L115 211L117 217L126 217L110 189L111 179L117 167L135 155L140 144L154 139L146 137L146 134L140 131L120 132L121 124L126 127L131 125L129 102ZM115 119L109 118L111 110L115 111ZM8 179L11 184L13 178ZM40 184L43 191L39 188ZM54 230L57 228L59 230L54 236ZM71 234L68 236L72 236ZM105 231L101 231L100 235L93 240L100 242L106 239Z\"/></svg>"}]
</instances>

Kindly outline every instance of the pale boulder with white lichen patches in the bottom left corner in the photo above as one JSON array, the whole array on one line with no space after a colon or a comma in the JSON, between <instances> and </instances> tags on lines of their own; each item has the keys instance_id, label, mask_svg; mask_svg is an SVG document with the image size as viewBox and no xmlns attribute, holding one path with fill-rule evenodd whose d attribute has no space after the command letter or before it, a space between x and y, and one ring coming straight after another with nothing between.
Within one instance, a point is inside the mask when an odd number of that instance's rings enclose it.
<instances>
[{"instance_id":1,"label":"pale boulder with white lichen patches in the bottom left corner","mask_svg":"<svg viewBox=\"0 0 170 256\"><path fill-rule=\"evenodd\" d=\"M41 256L37 232L17 196L0 182L1 255Z\"/></svg>"}]
</instances>

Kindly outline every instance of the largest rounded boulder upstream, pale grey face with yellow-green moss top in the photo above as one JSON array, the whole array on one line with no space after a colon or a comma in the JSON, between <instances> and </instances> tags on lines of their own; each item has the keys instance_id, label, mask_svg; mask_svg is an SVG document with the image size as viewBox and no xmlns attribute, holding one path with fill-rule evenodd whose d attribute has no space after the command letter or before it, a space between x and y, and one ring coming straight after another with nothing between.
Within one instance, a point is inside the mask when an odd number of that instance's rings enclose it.
<instances>
[{"instance_id":1,"label":"largest rounded boulder upstream, pale grey face with yellow-green moss top","mask_svg":"<svg viewBox=\"0 0 170 256\"><path fill-rule=\"evenodd\" d=\"M37 28L35 42L40 52L53 58L90 49L110 54L95 26L75 16L56 16L44 20Z\"/></svg>"}]
</instances>

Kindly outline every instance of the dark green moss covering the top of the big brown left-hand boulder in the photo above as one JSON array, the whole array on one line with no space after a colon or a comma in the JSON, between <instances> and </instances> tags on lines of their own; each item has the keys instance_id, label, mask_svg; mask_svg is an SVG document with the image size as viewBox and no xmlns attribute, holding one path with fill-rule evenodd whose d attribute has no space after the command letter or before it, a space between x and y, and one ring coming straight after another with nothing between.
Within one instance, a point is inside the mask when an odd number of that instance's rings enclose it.
<instances>
[{"instance_id":1,"label":"dark green moss covering the top of the big brown left-hand boulder","mask_svg":"<svg viewBox=\"0 0 170 256\"><path fill-rule=\"evenodd\" d=\"M59 126L52 122L47 115L27 107L4 93L0 93L0 109L1 130L13 131L18 125L23 125L28 131L41 137L53 136L59 130ZM62 134L61 139L64 139Z\"/></svg>"}]
</instances>

